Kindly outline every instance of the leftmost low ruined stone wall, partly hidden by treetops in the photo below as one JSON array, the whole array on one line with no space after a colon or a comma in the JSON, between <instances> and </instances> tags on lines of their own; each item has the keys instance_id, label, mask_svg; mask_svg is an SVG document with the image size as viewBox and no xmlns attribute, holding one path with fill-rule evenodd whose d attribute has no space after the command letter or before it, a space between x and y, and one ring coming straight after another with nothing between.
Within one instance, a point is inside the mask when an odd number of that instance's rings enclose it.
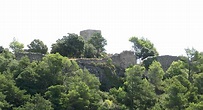
<instances>
[{"instance_id":1,"label":"leftmost low ruined stone wall, partly hidden by treetops","mask_svg":"<svg viewBox=\"0 0 203 110\"><path fill-rule=\"evenodd\" d=\"M21 52L21 53L15 53L16 60L20 60L22 57L28 56L30 61L41 61L42 58L44 57L43 54L41 53L32 53L32 52Z\"/></svg>"}]
</instances>

